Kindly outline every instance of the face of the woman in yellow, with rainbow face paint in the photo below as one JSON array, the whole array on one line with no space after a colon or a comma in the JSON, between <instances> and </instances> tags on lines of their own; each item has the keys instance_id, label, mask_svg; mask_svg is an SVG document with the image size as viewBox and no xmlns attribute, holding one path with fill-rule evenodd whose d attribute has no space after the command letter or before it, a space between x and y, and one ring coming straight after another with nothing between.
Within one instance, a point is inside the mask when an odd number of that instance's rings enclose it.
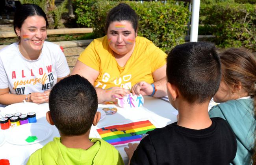
<instances>
[{"instance_id":1,"label":"face of the woman in yellow, with rainbow face paint","mask_svg":"<svg viewBox=\"0 0 256 165\"><path fill-rule=\"evenodd\" d=\"M119 55L130 52L135 44L135 32L130 21L114 21L108 27L108 44L109 47Z\"/></svg>"}]
</instances>

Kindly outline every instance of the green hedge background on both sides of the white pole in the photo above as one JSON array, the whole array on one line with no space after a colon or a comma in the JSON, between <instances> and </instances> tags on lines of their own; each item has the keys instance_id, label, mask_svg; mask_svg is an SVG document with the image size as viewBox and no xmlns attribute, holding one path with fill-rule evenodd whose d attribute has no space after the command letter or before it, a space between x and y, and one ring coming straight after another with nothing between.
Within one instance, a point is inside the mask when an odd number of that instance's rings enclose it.
<instances>
[{"instance_id":1,"label":"green hedge background on both sides of the white pole","mask_svg":"<svg viewBox=\"0 0 256 165\"><path fill-rule=\"evenodd\" d=\"M103 36L108 11L119 0L76 0L77 23L93 27L97 37ZM168 52L184 43L189 20L188 4L175 0L161 2L132 2L129 4L139 16L139 36L152 40ZM208 40L222 48L245 47L256 51L256 0L201 0L200 34L212 34Z\"/></svg>"}]
</instances>

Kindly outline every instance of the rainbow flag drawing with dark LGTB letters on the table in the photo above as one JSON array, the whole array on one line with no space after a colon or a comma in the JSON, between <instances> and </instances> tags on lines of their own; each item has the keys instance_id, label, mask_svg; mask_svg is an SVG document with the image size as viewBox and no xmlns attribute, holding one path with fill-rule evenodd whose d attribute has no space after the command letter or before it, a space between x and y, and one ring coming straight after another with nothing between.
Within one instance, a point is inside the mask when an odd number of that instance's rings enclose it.
<instances>
[{"instance_id":1,"label":"rainbow flag drawing with dark LGTB letters on the table","mask_svg":"<svg viewBox=\"0 0 256 165\"><path fill-rule=\"evenodd\" d=\"M111 145L126 145L133 141L140 141L141 137L156 127L149 121L137 121L121 125L112 125L97 129L100 138Z\"/></svg>"}]
</instances>

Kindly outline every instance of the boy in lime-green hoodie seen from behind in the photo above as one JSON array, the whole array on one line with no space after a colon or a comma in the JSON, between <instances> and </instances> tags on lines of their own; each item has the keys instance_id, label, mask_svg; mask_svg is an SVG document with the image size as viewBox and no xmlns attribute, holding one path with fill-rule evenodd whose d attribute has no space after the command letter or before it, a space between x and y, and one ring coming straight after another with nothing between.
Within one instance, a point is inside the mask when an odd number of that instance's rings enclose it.
<instances>
[{"instance_id":1,"label":"boy in lime-green hoodie seen from behind","mask_svg":"<svg viewBox=\"0 0 256 165\"><path fill-rule=\"evenodd\" d=\"M97 94L82 76L72 75L50 92L46 120L56 125L60 138L35 151L28 165L123 165L118 150L104 140L89 138L91 125L100 120Z\"/></svg>"}]
</instances>

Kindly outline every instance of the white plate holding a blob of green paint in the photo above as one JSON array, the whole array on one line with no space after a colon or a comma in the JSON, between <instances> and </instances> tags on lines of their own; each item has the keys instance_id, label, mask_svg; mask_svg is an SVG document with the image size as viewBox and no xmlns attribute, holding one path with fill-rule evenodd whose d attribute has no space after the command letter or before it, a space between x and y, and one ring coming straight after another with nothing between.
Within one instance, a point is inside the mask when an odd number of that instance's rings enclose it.
<instances>
[{"instance_id":1,"label":"white plate holding a blob of green paint","mask_svg":"<svg viewBox=\"0 0 256 165\"><path fill-rule=\"evenodd\" d=\"M52 128L43 123L28 123L10 128L6 133L6 141L15 145L30 145L45 140L52 134ZM29 143L26 139L36 136L37 140Z\"/></svg>"}]
</instances>

